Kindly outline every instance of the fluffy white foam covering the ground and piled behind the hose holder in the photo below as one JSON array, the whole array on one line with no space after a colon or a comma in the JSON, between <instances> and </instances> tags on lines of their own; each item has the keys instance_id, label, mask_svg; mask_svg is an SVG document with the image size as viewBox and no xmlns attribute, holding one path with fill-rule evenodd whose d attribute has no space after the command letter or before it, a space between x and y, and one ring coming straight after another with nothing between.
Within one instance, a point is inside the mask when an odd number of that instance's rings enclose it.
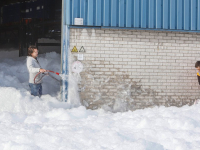
<instances>
[{"instance_id":1,"label":"fluffy white foam covering the ground and piled behind the hose holder","mask_svg":"<svg viewBox=\"0 0 200 150\"><path fill-rule=\"evenodd\" d=\"M199 150L200 104L125 113L86 110L58 101L60 85L44 79L41 99L29 93L26 57L0 51L1 150ZM12 59L11 59L12 58ZM60 72L60 55L40 55Z\"/></svg>"}]
</instances>

